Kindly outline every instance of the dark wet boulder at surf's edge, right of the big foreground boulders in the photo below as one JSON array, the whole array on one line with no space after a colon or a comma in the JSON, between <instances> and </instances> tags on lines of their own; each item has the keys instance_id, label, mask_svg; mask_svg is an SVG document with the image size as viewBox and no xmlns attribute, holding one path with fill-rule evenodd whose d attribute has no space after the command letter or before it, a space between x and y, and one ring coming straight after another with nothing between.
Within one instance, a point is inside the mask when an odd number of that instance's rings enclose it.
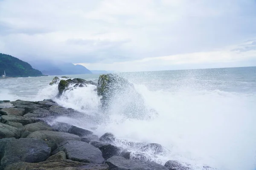
<instances>
[{"instance_id":1,"label":"dark wet boulder at surf's edge, right of the big foreground boulders","mask_svg":"<svg viewBox=\"0 0 256 170\"><path fill-rule=\"evenodd\" d=\"M118 156L121 152L119 147L116 147L112 144L98 142L98 141L91 141L89 144L93 145L94 147L99 148L102 151L102 156L104 159L109 159L112 156Z\"/></svg>"}]
</instances>

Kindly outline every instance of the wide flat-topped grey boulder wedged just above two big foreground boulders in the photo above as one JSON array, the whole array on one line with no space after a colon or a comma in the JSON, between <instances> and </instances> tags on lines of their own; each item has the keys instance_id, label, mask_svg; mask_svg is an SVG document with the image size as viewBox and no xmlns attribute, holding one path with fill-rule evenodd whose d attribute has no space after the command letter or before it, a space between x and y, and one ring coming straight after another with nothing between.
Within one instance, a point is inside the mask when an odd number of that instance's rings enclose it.
<instances>
[{"instance_id":1,"label":"wide flat-topped grey boulder wedged just above two big foreground boulders","mask_svg":"<svg viewBox=\"0 0 256 170\"><path fill-rule=\"evenodd\" d=\"M80 141L80 137L74 134L66 133L66 132L55 132L55 131L48 131L48 130L40 130L33 132L27 136L27 138L34 138L34 139L42 139L45 143L55 150L58 144L61 144L64 141Z\"/></svg>"}]
</instances>

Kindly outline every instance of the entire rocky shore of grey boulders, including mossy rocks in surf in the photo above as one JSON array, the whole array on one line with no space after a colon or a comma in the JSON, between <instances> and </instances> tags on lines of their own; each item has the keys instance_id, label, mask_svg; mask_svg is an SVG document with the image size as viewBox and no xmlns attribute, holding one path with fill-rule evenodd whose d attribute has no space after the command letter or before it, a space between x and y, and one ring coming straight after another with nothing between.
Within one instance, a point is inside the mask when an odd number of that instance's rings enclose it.
<instances>
[{"instance_id":1,"label":"entire rocky shore of grey boulders, including mossy rocks in surf","mask_svg":"<svg viewBox=\"0 0 256 170\"><path fill-rule=\"evenodd\" d=\"M122 83L118 86L113 85L120 81ZM133 90L132 84L126 81L107 74L99 78L97 85L83 79L58 77L50 85L58 84L57 97L73 88L96 85L98 94L103 96L102 107L107 108L111 93L122 87L129 87L133 95L139 95ZM52 99L37 102L0 101L0 115L0 170L191 169L189 165L175 160L161 165L143 157L143 151L147 150L153 150L155 154L164 153L166 149L160 144L126 142L140 147L141 153L134 156L131 151L116 145L119 139L112 133L96 136L91 129L82 129L64 122L50 124L59 116L82 116L82 113L64 108Z\"/></svg>"}]
</instances>

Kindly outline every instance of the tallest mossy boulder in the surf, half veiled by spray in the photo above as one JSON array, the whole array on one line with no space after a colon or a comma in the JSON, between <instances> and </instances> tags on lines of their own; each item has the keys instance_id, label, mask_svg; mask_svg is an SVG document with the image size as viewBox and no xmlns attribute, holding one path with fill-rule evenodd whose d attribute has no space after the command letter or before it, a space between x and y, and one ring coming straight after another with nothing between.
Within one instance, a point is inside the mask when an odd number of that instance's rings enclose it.
<instances>
[{"instance_id":1,"label":"tallest mossy boulder in the surf, half veiled by spray","mask_svg":"<svg viewBox=\"0 0 256 170\"><path fill-rule=\"evenodd\" d=\"M119 113L129 118L143 119L147 107L143 97L127 79L116 74L103 74L97 83L97 94L102 96L102 111L111 112L113 105L118 105Z\"/></svg>"}]
</instances>

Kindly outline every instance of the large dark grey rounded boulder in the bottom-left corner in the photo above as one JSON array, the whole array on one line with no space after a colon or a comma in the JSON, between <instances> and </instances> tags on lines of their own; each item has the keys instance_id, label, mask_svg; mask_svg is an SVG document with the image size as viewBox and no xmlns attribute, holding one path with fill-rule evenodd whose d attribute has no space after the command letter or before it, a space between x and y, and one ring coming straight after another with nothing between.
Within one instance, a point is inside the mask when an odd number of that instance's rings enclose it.
<instances>
[{"instance_id":1,"label":"large dark grey rounded boulder in the bottom-left corner","mask_svg":"<svg viewBox=\"0 0 256 170\"><path fill-rule=\"evenodd\" d=\"M51 153L51 148L42 140L20 138L10 140L4 147L1 154L1 168L9 164L26 161L45 161Z\"/></svg>"}]
</instances>

